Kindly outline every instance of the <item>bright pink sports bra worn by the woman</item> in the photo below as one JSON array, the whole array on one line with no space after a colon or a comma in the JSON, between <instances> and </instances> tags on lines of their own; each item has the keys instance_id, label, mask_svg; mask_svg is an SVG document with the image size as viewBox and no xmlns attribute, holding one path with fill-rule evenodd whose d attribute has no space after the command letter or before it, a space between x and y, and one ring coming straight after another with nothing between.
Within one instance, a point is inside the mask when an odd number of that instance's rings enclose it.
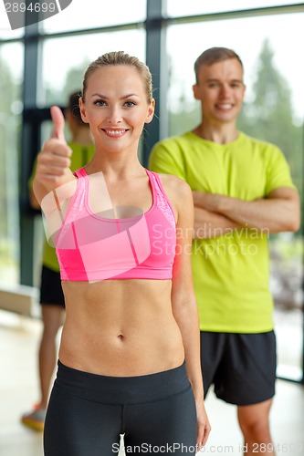
<instances>
[{"instance_id":1,"label":"bright pink sports bra worn by the woman","mask_svg":"<svg viewBox=\"0 0 304 456\"><path fill-rule=\"evenodd\" d=\"M159 176L145 170L152 188L149 211L105 218L89 207L89 176L75 171L77 189L58 232L61 280L171 279L176 245L173 208Z\"/></svg>"}]
</instances>

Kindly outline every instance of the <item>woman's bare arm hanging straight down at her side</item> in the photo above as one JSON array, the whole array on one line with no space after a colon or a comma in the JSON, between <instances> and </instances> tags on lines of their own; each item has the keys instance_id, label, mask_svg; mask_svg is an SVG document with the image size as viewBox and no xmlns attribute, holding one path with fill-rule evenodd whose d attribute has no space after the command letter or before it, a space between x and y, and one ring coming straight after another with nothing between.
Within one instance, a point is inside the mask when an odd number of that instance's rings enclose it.
<instances>
[{"instance_id":1,"label":"woman's bare arm hanging straight down at her side","mask_svg":"<svg viewBox=\"0 0 304 456\"><path fill-rule=\"evenodd\" d=\"M185 366L191 382L197 412L197 445L204 446L211 430L204 409L204 388L200 358L200 332L192 279L191 249L194 203L188 184L173 176L161 176L165 191L177 215L177 244L173 264L173 316L181 330Z\"/></svg>"}]
</instances>

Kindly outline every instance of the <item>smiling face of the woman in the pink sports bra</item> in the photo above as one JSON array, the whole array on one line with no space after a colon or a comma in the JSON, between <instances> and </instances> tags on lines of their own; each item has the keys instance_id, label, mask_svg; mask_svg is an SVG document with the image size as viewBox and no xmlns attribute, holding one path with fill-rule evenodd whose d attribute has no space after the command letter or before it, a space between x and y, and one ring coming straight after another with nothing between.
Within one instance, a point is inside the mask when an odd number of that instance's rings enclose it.
<instances>
[{"instance_id":1,"label":"smiling face of the woman in the pink sports bra","mask_svg":"<svg viewBox=\"0 0 304 456\"><path fill-rule=\"evenodd\" d=\"M150 123L154 100L148 102L137 69L127 65L100 67L90 74L82 119L89 123L96 146L119 151L138 143L145 123Z\"/></svg>"}]
</instances>

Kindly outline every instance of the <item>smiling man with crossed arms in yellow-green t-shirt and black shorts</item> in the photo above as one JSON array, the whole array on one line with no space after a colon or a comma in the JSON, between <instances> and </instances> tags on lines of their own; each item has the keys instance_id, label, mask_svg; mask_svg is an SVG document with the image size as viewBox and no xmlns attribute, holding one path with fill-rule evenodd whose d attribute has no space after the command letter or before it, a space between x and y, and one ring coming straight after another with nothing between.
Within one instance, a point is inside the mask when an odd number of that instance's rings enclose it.
<instances>
[{"instance_id":1,"label":"smiling man with crossed arms in yellow-green t-shirt and black shorts","mask_svg":"<svg viewBox=\"0 0 304 456\"><path fill-rule=\"evenodd\" d=\"M236 53L207 49L194 70L202 121L156 144L150 169L175 174L193 190L204 391L214 383L218 398L236 404L246 454L274 455L269 410L276 340L267 238L299 229L299 195L281 151L236 129L246 89Z\"/></svg>"}]
</instances>

